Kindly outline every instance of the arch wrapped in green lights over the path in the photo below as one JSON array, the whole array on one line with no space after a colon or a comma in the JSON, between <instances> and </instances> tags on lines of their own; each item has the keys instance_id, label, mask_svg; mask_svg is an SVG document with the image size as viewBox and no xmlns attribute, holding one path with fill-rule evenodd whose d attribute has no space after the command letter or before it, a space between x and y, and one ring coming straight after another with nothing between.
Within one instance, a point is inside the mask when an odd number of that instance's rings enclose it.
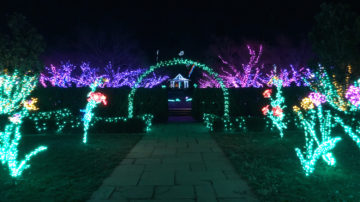
<instances>
[{"instance_id":1,"label":"arch wrapped in green lights over the path","mask_svg":"<svg viewBox=\"0 0 360 202\"><path fill-rule=\"evenodd\" d=\"M214 72L213 69L211 69L210 67L192 61L192 60L188 60L188 59L183 59L183 58L174 58L172 60L166 60L166 61L160 61L158 62L156 65L150 66L150 68L144 72L142 75L139 76L138 80L136 81L135 85L132 87L129 96L128 96L128 117L132 118L134 116L134 95L136 92L136 89L138 88L139 84L141 83L141 81L150 73L152 73L153 71L155 71L156 69L160 68L160 67L169 67L169 66L174 66L174 65L195 65L196 67L202 69L203 71L207 72L208 74L212 75L213 77L215 77L215 79L219 82L220 87L223 91L223 95L224 95L224 123L225 125L227 125L227 122L230 120L229 118L229 92L228 89L226 88L226 86L224 85L223 80L219 77L218 73Z\"/></svg>"}]
</instances>

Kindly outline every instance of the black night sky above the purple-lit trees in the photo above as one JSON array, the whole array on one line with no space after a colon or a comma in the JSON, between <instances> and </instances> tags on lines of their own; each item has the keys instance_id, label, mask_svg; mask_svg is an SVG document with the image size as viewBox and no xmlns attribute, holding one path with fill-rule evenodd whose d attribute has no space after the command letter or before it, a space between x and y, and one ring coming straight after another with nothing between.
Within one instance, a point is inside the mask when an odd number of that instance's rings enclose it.
<instances>
[{"instance_id":1,"label":"black night sky above the purple-lit trees","mask_svg":"<svg viewBox=\"0 0 360 202\"><path fill-rule=\"evenodd\" d=\"M4 14L14 11L23 13L45 37L49 49L76 42L77 32L85 27L125 32L148 55L156 49L199 55L219 37L266 42L279 35L295 41L306 38L321 2L11 0L2 2L0 17L4 19ZM347 2L358 9L356 1Z\"/></svg>"}]
</instances>

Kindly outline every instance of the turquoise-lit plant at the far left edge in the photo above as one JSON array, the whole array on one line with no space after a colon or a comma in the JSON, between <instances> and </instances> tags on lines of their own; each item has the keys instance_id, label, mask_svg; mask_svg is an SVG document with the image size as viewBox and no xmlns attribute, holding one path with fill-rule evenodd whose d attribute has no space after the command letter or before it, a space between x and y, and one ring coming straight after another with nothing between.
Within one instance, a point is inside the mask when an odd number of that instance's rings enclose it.
<instances>
[{"instance_id":1,"label":"turquoise-lit plant at the far left edge","mask_svg":"<svg viewBox=\"0 0 360 202\"><path fill-rule=\"evenodd\" d=\"M19 76L16 71L12 75L5 73L0 76L0 113L9 115L10 121L0 132L0 160L2 165L8 166L12 177L21 176L30 167L31 158L47 149L46 146L39 146L26 154L23 160L18 160L22 119L28 115L28 110L37 109L34 105L36 99L25 100L35 86L35 76Z\"/></svg>"}]
</instances>

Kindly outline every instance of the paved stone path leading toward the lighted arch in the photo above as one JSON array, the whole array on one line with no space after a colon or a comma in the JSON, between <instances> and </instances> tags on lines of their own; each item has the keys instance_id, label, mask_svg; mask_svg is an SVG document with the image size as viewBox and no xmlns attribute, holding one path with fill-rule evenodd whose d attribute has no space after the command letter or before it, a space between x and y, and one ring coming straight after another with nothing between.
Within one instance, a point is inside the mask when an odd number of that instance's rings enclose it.
<instances>
[{"instance_id":1,"label":"paved stone path leading toward the lighted arch","mask_svg":"<svg viewBox=\"0 0 360 202\"><path fill-rule=\"evenodd\" d=\"M90 201L255 201L200 123L155 126L104 180Z\"/></svg>"}]
</instances>

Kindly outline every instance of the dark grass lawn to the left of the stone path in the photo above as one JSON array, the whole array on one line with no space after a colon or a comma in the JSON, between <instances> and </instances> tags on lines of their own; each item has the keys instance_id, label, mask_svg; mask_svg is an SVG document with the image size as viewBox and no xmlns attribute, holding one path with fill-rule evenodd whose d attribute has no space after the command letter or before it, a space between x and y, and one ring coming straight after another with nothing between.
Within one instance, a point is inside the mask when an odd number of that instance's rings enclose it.
<instances>
[{"instance_id":1,"label":"dark grass lawn to the left of the stone path","mask_svg":"<svg viewBox=\"0 0 360 202\"><path fill-rule=\"evenodd\" d=\"M87 145L81 135L23 137L20 158L40 144L48 150L18 180L0 165L0 201L86 201L141 137L89 134Z\"/></svg>"}]
</instances>

